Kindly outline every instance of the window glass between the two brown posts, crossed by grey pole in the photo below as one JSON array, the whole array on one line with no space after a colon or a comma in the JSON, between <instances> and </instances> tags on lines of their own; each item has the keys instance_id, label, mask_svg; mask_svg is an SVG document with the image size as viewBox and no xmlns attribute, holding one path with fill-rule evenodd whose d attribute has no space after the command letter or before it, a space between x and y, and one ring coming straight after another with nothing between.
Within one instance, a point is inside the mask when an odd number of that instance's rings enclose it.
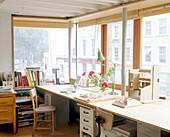
<instances>
[{"instance_id":1,"label":"window glass between the two brown posts, crossed by grey pole","mask_svg":"<svg viewBox=\"0 0 170 137\"><path fill-rule=\"evenodd\" d=\"M116 63L115 83L121 84L121 68L122 68L122 22L108 24L108 58ZM128 84L128 69L132 69L133 65L133 20L127 22L127 39L126 39L126 85ZM108 61L108 67L113 64Z\"/></svg>"}]
</instances>

